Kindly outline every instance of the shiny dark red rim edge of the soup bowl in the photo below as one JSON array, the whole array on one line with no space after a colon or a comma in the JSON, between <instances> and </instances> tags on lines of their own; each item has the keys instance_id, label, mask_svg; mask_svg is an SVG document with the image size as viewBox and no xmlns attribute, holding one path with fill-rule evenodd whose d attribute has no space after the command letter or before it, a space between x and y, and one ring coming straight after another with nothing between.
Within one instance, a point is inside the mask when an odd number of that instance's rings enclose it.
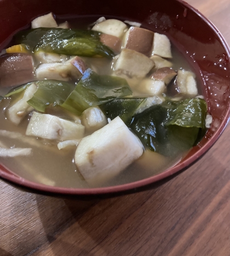
<instances>
[{"instance_id":1,"label":"shiny dark red rim edge of the soup bowl","mask_svg":"<svg viewBox=\"0 0 230 256\"><path fill-rule=\"evenodd\" d=\"M220 31L217 30L215 25L212 24L212 22L209 19L207 19L202 13L200 13L199 10L195 9L190 4L188 4L182 0L176 0L176 1L185 5L186 8L191 9L195 14L200 16L200 18L203 19L203 21L205 21L206 24L208 24L211 27L211 29L215 32L218 39L220 39L220 41L223 45L223 48L225 48L228 58L230 59L230 49L228 47L228 44L226 43L225 39L221 35ZM170 175L175 174L176 172L179 172L179 170L182 170L183 168L188 167L194 161L198 160L198 158L203 156L204 153L206 151L208 151L212 145L214 145L214 143L217 141L219 136L222 134L223 130L225 129L225 127L229 121L229 115L230 115L230 108L228 105L226 115L221 123L221 126L218 127L218 129L215 131L215 133L211 136L211 139L208 141L208 143L206 143L202 148L200 148L197 152L195 152L194 155L187 158L187 160L183 161L182 163L177 164L174 167L166 169L163 173L154 175L153 177L149 177L149 178L146 178L143 180L135 181L133 183L117 185L117 186L110 186L110 187L90 188L90 189L71 189L71 188L66 188L66 187L55 187L55 186L48 186L48 185L44 185L44 184L34 183L32 181L28 181L21 177L17 177L14 174L4 172L4 170L1 170L1 169L0 169L0 177L2 177L3 179L6 179L8 181L12 181L13 183L16 183L18 185L28 187L33 190L38 190L38 191L42 191L42 192L50 192L50 193L54 193L54 194L63 194L63 195L110 194L110 193L114 193L114 192L122 192L122 191L135 189L137 187L149 185L156 181L159 181L166 177L169 177Z\"/></svg>"}]
</instances>

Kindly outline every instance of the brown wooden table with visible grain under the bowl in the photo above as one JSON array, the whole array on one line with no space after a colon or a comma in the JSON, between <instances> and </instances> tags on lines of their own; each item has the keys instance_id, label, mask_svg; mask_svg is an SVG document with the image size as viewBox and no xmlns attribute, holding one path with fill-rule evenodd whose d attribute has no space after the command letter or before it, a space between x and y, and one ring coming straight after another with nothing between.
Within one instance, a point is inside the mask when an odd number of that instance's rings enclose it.
<instances>
[{"instance_id":1,"label":"brown wooden table with visible grain under the bowl","mask_svg":"<svg viewBox=\"0 0 230 256\"><path fill-rule=\"evenodd\" d=\"M230 44L230 1L187 0ZM80 200L0 180L0 256L229 256L230 126L202 160L150 190Z\"/></svg>"}]
</instances>

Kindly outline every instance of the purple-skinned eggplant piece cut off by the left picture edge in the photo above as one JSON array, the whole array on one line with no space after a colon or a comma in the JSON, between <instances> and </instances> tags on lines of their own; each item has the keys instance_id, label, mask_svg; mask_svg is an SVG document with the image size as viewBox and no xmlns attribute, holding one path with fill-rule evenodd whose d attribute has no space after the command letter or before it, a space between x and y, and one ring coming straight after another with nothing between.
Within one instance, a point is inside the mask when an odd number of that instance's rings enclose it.
<instances>
[{"instance_id":1,"label":"purple-skinned eggplant piece cut off by the left picture edge","mask_svg":"<svg viewBox=\"0 0 230 256\"><path fill-rule=\"evenodd\" d=\"M34 80L33 58L14 53L0 57L0 87L16 87Z\"/></svg>"}]
</instances>

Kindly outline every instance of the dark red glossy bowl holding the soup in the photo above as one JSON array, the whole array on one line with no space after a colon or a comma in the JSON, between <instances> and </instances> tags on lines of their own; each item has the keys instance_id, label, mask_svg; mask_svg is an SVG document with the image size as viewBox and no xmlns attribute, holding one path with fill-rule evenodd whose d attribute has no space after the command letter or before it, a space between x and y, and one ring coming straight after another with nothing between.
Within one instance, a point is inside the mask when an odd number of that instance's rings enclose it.
<instances>
[{"instance_id":1,"label":"dark red glossy bowl holding the soup","mask_svg":"<svg viewBox=\"0 0 230 256\"><path fill-rule=\"evenodd\" d=\"M41 192L67 195L107 194L134 189L169 177L200 158L216 142L229 119L230 53L225 39L216 27L198 10L180 0L133 1L116 0L2 0L0 2L0 50L14 33L28 27L37 16L53 12L58 18L78 16L119 17L133 20L152 31L165 33L197 70L203 93L213 117L211 128L176 166L165 172L134 183L96 189L53 187L20 178L0 165L0 177Z\"/></svg>"}]
</instances>

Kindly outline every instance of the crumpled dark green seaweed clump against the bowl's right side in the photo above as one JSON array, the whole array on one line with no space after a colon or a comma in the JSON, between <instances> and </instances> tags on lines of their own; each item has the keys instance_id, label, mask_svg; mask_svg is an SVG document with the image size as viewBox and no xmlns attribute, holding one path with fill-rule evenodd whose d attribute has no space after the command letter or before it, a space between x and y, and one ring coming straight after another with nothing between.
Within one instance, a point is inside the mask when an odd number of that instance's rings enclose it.
<instances>
[{"instance_id":1,"label":"crumpled dark green seaweed clump against the bowl's right side","mask_svg":"<svg viewBox=\"0 0 230 256\"><path fill-rule=\"evenodd\" d=\"M166 101L136 115L130 127L150 150L176 155L204 135L206 110L205 101L199 98Z\"/></svg>"}]
</instances>

